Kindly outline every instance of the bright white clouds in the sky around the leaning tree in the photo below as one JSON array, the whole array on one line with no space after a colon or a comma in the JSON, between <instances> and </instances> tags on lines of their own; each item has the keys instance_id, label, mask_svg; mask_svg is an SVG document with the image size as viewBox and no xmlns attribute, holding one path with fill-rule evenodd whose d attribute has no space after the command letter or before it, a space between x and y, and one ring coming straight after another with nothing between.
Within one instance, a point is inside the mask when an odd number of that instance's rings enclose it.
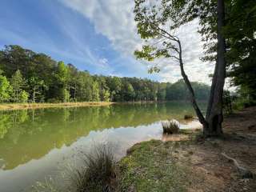
<instances>
[{"instance_id":1,"label":"bright white clouds in the sky around the leaning tree","mask_svg":"<svg viewBox=\"0 0 256 192\"><path fill-rule=\"evenodd\" d=\"M134 50L142 46L134 22L134 0L59 0L66 6L78 11L94 24L98 34L106 36L115 50L126 56L134 57ZM198 21L182 26L178 30L181 38L185 70L190 80L210 83L208 74L213 73L213 66L201 62L202 42L197 33ZM136 62L137 65L148 65ZM111 65L111 63L109 64ZM178 63L170 60L158 60L161 66L160 76L164 82L174 82L181 78ZM138 67L144 69L145 67Z\"/></svg>"}]
</instances>

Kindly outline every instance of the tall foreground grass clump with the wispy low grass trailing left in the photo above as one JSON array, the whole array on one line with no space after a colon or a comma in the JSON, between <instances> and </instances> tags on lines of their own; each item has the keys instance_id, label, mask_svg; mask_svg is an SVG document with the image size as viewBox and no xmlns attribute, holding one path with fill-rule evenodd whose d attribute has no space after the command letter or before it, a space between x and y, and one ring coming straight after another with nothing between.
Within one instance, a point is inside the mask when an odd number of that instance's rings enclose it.
<instances>
[{"instance_id":1,"label":"tall foreground grass clump with the wispy low grass trailing left","mask_svg":"<svg viewBox=\"0 0 256 192\"><path fill-rule=\"evenodd\" d=\"M79 153L79 166L66 166L62 178L46 178L32 186L33 192L114 192L118 191L114 154L109 146L94 146Z\"/></svg>"}]
</instances>

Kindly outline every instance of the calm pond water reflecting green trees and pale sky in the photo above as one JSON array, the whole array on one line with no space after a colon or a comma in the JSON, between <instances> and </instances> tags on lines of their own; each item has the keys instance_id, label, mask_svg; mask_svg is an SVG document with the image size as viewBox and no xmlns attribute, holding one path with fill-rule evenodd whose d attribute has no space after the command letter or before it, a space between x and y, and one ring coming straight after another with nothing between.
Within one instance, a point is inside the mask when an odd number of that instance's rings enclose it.
<instances>
[{"instance_id":1,"label":"calm pond water reflecting green trees and pale sky","mask_svg":"<svg viewBox=\"0 0 256 192\"><path fill-rule=\"evenodd\" d=\"M184 114L194 112L178 102L0 111L0 191L30 191L98 142L111 143L122 157L135 142L162 138L161 120L198 126L182 121Z\"/></svg>"}]
</instances>

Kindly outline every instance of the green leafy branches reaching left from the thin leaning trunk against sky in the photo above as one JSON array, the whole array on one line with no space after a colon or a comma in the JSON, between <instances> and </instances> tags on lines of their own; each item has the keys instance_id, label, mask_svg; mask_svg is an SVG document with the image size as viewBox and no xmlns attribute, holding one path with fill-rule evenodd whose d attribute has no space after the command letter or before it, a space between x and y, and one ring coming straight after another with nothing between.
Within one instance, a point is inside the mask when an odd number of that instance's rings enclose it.
<instances>
[{"instance_id":1,"label":"green leafy branches reaching left from the thin leaning trunk against sky","mask_svg":"<svg viewBox=\"0 0 256 192\"><path fill-rule=\"evenodd\" d=\"M138 34L145 39L142 50L135 50L138 59L154 61L156 58L179 59L178 37L175 35L174 21L166 9L168 1L150 2L135 0L134 14ZM150 73L159 72L158 67L150 68Z\"/></svg>"}]
</instances>

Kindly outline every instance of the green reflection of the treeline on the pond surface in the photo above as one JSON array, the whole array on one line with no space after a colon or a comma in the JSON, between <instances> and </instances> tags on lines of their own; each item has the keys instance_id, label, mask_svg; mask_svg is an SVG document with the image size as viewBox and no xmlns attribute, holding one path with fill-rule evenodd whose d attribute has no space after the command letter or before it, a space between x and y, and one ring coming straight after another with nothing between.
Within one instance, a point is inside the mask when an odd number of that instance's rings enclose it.
<instances>
[{"instance_id":1,"label":"green reflection of the treeline on the pond surface","mask_svg":"<svg viewBox=\"0 0 256 192\"><path fill-rule=\"evenodd\" d=\"M186 103L157 103L82 108L16 110L0 116L0 158L6 169L70 146L91 130L149 125L193 114ZM4 135L4 136L1 136ZM11 149L11 150L10 150Z\"/></svg>"}]
</instances>

